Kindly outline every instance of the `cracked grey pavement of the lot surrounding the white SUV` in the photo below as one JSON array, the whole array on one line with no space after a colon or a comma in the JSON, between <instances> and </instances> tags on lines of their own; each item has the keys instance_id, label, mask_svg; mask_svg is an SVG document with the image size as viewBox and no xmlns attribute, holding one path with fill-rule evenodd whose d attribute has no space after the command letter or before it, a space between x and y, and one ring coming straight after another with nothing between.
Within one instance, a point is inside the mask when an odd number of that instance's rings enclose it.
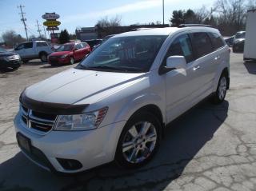
<instances>
[{"instance_id":1,"label":"cracked grey pavement of the lot surrounding the white SUV","mask_svg":"<svg viewBox=\"0 0 256 191\"><path fill-rule=\"evenodd\" d=\"M0 72L0 190L256 190L256 63L231 54L226 101L202 101L172 122L158 154L142 169L110 164L57 177L22 155L13 119L26 86L70 67L34 62Z\"/></svg>"}]
</instances>

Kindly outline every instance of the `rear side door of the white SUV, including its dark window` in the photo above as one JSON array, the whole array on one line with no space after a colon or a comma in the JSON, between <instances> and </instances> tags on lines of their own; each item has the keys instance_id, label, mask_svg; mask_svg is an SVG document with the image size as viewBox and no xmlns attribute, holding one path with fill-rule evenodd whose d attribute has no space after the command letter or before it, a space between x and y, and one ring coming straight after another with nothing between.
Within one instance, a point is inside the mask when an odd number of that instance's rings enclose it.
<instances>
[{"instance_id":1,"label":"rear side door of the white SUV, including its dark window","mask_svg":"<svg viewBox=\"0 0 256 191\"><path fill-rule=\"evenodd\" d=\"M210 94L214 82L214 47L206 32L194 32L190 34L190 37L196 55L193 78L194 84L198 86L197 97L206 97L207 94Z\"/></svg>"}]
</instances>

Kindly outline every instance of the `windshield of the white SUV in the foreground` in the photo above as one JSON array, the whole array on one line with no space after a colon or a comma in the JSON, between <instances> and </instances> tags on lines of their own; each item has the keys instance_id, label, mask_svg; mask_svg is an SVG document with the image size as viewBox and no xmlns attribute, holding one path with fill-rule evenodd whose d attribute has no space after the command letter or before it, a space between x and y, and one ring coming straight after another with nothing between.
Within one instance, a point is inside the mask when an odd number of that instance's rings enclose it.
<instances>
[{"instance_id":1,"label":"windshield of the white SUV in the foreground","mask_svg":"<svg viewBox=\"0 0 256 191\"><path fill-rule=\"evenodd\" d=\"M110 38L94 50L78 69L146 72L167 36Z\"/></svg>"}]
</instances>

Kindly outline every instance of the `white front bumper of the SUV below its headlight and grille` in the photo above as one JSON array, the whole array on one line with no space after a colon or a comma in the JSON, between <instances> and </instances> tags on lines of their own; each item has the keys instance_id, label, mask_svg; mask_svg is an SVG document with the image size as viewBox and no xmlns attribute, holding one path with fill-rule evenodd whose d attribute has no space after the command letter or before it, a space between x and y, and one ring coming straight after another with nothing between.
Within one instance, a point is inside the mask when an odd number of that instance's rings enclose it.
<instances>
[{"instance_id":1,"label":"white front bumper of the SUV below its headlight and grille","mask_svg":"<svg viewBox=\"0 0 256 191\"><path fill-rule=\"evenodd\" d=\"M51 130L45 135L39 135L31 132L22 124L19 113L14 119L16 132L30 139L31 147L35 149L34 152L39 152L44 162L38 161L38 157L34 157L33 153L31 155L22 149L26 157L44 169L61 173L78 173L113 161L118 138L125 123L126 121L120 121L88 131ZM58 158L79 161L82 167L65 169Z\"/></svg>"}]
</instances>

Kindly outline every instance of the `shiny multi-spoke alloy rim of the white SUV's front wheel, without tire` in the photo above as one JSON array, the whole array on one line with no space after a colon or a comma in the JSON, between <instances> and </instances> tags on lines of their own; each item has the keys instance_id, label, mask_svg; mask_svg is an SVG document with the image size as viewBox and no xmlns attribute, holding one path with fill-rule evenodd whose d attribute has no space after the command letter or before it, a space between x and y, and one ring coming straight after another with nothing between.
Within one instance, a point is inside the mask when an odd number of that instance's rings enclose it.
<instances>
[{"instance_id":1,"label":"shiny multi-spoke alloy rim of the white SUV's front wheel, without tire","mask_svg":"<svg viewBox=\"0 0 256 191\"><path fill-rule=\"evenodd\" d=\"M153 152L157 141L157 130L148 121L130 127L122 141L122 154L126 161L138 164Z\"/></svg>"}]
</instances>

